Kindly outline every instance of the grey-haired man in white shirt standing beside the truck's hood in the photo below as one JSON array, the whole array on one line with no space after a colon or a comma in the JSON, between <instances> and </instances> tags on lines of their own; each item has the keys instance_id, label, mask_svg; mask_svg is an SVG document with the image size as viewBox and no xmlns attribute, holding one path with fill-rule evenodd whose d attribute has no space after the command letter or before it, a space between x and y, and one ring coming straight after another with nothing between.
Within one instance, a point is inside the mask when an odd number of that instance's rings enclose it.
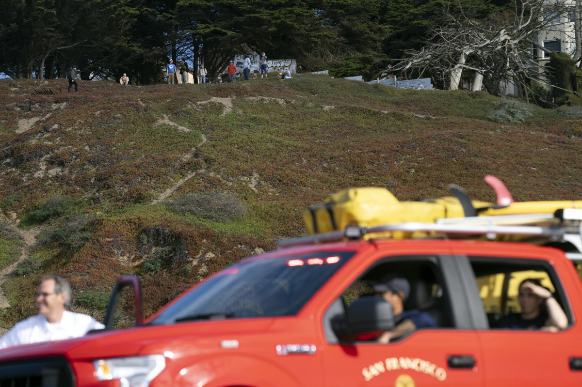
<instances>
[{"instance_id":1,"label":"grey-haired man in white shirt standing beside the truck's hood","mask_svg":"<svg viewBox=\"0 0 582 387\"><path fill-rule=\"evenodd\" d=\"M44 341L73 339L91 329L102 329L91 316L65 310L69 306L69 282L58 275L47 275L38 285L36 303L38 314L18 322L0 338L0 349Z\"/></svg>"}]
</instances>

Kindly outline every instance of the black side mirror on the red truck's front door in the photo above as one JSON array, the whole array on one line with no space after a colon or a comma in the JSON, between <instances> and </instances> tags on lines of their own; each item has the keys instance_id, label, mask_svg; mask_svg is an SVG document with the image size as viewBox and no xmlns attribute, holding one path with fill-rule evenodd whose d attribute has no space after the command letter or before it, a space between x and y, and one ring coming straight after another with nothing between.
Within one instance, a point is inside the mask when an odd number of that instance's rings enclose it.
<instances>
[{"instance_id":1,"label":"black side mirror on the red truck's front door","mask_svg":"<svg viewBox=\"0 0 582 387\"><path fill-rule=\"evenodd\" d=\"M347 309L345 323L336 322L335 328L340 338L349 340L361 334L390 331L394 328L392 305L376 295L362 296Z\"/></svg>"}]
</instances>

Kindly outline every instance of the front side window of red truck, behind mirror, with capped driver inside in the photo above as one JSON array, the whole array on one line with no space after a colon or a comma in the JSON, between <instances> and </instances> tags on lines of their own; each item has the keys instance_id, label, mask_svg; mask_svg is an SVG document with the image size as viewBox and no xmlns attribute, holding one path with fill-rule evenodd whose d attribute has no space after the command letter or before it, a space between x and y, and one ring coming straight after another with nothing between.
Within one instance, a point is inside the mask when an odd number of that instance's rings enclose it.
<instances>
[{"instance_id":1,"label":"front side window of red truck, behind mirror, with capped driver inside","mask_svg":"<svg viewBox=\"0 0 582 387\"><path fill-rule=\"evenodd\" d=\"M398 342L418 329L450 328L450 303L441 278L438 257L389 257L378 260L336 300L335 322L345 322L342 319L354 301L378 298L391 304L395 325L391 331L398 334L391 338L387 337L388 334L382 338L385 332L368 332L357 335L355 341ZM335 342L335 339L330 342Z\"/></svg>"}]
</instances>

